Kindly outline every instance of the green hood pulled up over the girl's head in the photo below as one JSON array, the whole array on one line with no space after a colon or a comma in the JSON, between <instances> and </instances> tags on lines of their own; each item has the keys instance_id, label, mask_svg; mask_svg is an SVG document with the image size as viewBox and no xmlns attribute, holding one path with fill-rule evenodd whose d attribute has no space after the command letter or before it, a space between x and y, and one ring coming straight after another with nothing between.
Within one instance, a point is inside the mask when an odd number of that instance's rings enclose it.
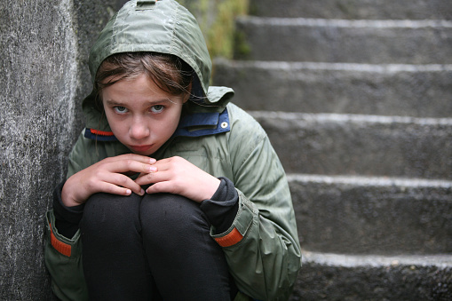
<instances>
[{"instance_id":1,"label":"green hood pulled up over the girl's head","mask_svg":"<svg viewBox=\"0 0 452 301\"><path fill-rule=\"evenodd\" d=\"M89 67L94 77L104 59L120 52L155 51L183 59L196 74L192 93L202 100L187 103L188 111L217 107L220 112L234 94L226 87L209 87L211 60L201 29L194 16L173 0L132 0L123 5L100 32L92 46ZM97 91L83 99L86 127L111 131L96 106Z\"/></svg>"}]
</instances>

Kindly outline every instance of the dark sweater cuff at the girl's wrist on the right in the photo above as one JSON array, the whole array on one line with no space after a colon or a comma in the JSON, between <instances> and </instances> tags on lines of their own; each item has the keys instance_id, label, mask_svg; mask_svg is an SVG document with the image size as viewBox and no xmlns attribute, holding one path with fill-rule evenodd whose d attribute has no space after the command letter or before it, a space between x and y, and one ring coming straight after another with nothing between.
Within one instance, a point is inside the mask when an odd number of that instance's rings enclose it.
<instances>
[{"instance_id":1,"label":"dark sweater cuff at the girl's wrist on the right","mask_svg":"<svg viewBox=\"0 0 452 301\"><path fill-rule=\"evenodd\" d=\"M234 183L228 178L219 178L221 183L210 200L201 202L201 210L210 224L215 227L215 234L225 232L233 225L239 210L239 194Z\"/></svg>"}]
</instances>

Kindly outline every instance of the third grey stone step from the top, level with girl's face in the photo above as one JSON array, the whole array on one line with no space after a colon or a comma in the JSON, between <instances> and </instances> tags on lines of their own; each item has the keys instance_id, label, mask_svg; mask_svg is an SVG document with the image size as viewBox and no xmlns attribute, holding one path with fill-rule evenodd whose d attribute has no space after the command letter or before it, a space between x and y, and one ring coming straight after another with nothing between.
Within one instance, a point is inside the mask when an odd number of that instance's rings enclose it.
<instances>
[{"instance_id":1,"label":"third grey stone step from the top, level with girl's face","mask_svg":"<svg viewBox=\"0 0 452 301\"><path fill-rule=\"evenodd\" d=\"M215 59L213 83L247 110L452 116L452 65Z\"/></svg>"}]
</instances>

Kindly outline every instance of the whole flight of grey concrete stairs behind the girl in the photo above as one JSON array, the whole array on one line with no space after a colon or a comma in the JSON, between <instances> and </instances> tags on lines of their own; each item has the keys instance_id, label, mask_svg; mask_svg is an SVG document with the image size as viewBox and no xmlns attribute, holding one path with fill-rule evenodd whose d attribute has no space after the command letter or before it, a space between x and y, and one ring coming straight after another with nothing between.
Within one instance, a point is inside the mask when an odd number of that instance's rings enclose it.
<instances>
[{"instance_id":1,"label":"whole flight of grey concrete stairs behind the girl","mask_svg":"<svg viewBox=\"0 0 452 301\"><path fill-rule=\"evenodd\" d=\"M266 129L292 300L452 300L452 2L251 0L213 83Z\"/></svg>"}]
</instances>

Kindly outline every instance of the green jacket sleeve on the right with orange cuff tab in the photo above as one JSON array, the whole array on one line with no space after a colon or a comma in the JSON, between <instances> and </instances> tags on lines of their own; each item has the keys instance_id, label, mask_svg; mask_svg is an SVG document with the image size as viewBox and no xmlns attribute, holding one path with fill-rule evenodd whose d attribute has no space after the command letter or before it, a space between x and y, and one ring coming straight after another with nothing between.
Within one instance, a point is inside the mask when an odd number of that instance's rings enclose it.
<instances>
[{"instance_id":1,"label":"green jacket sleeve on the right with orange cuff tab","mask_svg":"<svg viewBox=\"0 0 452 301\"><path fill-rule=\"evenodd\" d=\"M256 122L244 125L234 124L229 138L239 210L225 233L211 234L243 293L287 300L301 266L289 185L266 133Z\"/></svg>"}]
</instances>

